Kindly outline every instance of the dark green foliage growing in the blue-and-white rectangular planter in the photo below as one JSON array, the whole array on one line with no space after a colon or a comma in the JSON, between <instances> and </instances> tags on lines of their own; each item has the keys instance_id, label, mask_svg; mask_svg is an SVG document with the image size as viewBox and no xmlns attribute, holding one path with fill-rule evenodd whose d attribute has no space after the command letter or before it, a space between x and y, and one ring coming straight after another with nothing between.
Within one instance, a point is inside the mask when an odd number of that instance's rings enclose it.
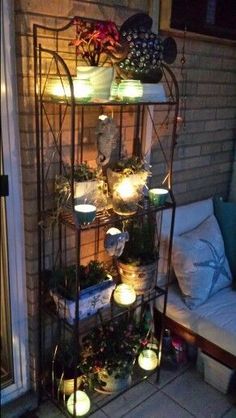
<instances>
[{"instance_id":1,"label":"dark green foliage growing in the blue-and-white rectangular planter","mask_svg":"<svg viewBox=\"0 0 236 418\"><path fill-rule=\"evenodd\" d=\"M108 270L102 262L91 260L87 266L79 266L80 290L86 289L108 278ZM50 273L49 288L66 299L75 300L77 297L76 288L76 266L68 266L57 269Z\"/></svg>"}]
</instances>

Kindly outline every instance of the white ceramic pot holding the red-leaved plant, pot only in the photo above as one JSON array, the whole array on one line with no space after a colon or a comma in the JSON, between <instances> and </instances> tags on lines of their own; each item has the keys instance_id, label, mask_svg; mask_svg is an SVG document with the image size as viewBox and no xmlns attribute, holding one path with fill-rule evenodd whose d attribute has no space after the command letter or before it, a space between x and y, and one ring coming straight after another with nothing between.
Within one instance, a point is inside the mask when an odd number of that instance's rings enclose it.
<instances>
[{"instance_id":1,"label":"white ceramic pot holding the red-leaved plant, pot only","mask_svg":"<svg viewBox=\"0 0 236 418\"><path fill-rule=\"evenodd\" d=\"M77 78L89 79L93 88L92 100L108 100L114 76L113 67L77 67Z\"/></svg>"}]
</instances>

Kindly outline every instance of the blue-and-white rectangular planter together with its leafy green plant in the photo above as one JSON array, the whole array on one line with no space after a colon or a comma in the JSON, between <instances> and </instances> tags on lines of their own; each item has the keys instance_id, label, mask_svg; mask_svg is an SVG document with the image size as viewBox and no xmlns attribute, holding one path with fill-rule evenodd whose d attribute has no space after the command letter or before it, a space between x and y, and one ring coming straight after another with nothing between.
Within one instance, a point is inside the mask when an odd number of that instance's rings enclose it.
<instances>
[{"instance_id":1,"label":"blue-and-white rectangular planter together with its leafy green plant","mask_svg":"<svg viewBox=\"0 0 236 418\"><path fill-rule=\"evenodd\" d=\"M109 305L115 282L104 264L91 260L78 268L80 291L76 288L76 266L68 266L51 272L50 295L58 314L69 324L75 320L76 298L79 297L79 319L94 315L98 309Z\"/></svg>"}]
</instances>

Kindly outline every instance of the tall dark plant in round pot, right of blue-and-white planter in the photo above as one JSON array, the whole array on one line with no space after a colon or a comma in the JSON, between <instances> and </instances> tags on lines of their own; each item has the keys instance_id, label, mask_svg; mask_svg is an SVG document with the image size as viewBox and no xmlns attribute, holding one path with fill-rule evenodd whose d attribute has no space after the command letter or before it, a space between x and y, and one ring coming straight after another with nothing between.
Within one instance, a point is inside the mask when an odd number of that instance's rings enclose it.
<instances>
[{"instance_id":1,"label":"tall dark plant in round pot, right of blue-and-white planter","mask_svg":"<svg viewBox=\"0 0 236 418\"><path fill-rule=\"evenodd\" d=\"M123 283L133 286L141 295L155 286L158 252L155 245L155 222L149 217L126 224L129 241L117 259Z\"/></svg>"}]
</instances>

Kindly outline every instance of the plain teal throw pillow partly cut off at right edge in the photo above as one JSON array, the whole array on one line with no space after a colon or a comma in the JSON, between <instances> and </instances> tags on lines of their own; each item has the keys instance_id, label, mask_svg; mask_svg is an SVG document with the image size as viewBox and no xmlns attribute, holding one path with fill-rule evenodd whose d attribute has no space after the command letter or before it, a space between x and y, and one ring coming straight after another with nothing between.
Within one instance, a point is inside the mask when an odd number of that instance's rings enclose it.
<instances>
[{"instance_id":1,"label":"plain teal throw pillow partly cut off at right edge","mask_svg":"<svg viewBox=\"0 0 236 418\"><path fill-rule=\"evenodd\" d=\"M214 199L214 212L223 236L225 253L236 289L236 203Z\"/></svg>"}]
</instances>

